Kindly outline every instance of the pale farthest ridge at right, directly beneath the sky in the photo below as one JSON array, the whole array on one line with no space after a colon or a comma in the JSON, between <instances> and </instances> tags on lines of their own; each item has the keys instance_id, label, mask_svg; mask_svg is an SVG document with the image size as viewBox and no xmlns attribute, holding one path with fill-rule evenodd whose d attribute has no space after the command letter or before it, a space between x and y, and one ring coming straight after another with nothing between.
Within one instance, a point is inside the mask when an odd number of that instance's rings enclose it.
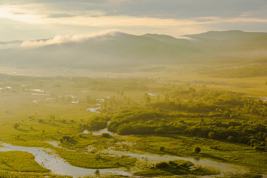
<instances>
[{"instance_id":1,"label":"pale farthest ridge at right, directly beneath the sky","mask_svg":"<svg viewBox=\"0 0 267 178\"><path fill-rule=\"evenodd\" d=\"M209 31L209 32L201 33L201 34L195 34L195 35L183 35L182 37L212 39L212 40L229 40L229 39L259 36L259 35L267 35L267 33L243 32L243 31L238 31L238 30L230 30L230 31Z\"/></svg>"}]
</instances>

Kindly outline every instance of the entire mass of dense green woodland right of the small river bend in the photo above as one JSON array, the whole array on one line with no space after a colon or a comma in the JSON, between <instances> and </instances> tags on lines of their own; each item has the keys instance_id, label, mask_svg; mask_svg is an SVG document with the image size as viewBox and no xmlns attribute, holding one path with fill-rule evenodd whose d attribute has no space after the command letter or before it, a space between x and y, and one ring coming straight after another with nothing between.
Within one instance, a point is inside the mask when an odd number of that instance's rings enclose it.
<instances>
[{"instance_id":1,"label":"entire mass of dense green woodland right of the small river bend","mask_svg":"<svg viewBox=\"0 0 267 178\"><path fill-rule=\"evenodd\" d=\"M266 101L223 90L188 89L167 95L164 101L118 111L108 130L122 135L190 134L267 150Z\"/></svg>"}]
</instances>

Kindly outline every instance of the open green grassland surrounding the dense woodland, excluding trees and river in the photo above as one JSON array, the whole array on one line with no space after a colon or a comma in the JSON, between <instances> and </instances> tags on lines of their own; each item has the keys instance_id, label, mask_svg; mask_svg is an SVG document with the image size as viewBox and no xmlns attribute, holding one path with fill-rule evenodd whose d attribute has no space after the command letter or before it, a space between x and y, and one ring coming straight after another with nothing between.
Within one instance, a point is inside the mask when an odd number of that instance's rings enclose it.
<instances>
[{"instance_id":1,"label":"open green grassland surrounding the dense woodland, excluding trees and river","mask_svg":"<svg viewBox=\"0 0 267 178\"><path fill-rule=\"evenodd\" d=\"M152 69L155 67L158 66L149 66L149 72L143 72L144 69L140 72L138 69L138 73L134 72L134 69L128 73L67 71L65 69L59 69L59 72L39 70L31 73L30 69L2 69L2 72L9 74L16 72L17 74L41 75L48 78L15 77L0 80L1 142L18 146L49 148L70 165L81 168L122 168L136 172L135 175L147 177L172 177L178 173L175 172L176 169L173 170L170 167L154 168L152 163L140 161L131 156L111 156L108 151L204 158L243 166L251 173L267 174L266 152L257 151L253 149L253 146L243 143L189 134L117 135L108 138L101 135L82 134L81 125L89 124L93 115L112 117L125 106L145 108L145 92L153 94L149 96L150 103L164 101L166 93L178 88L186 90L193 88L196 91L202 89L231 90L242 92L243 95L267 96L266 76L214 78L204 74L199 75L200 71L209 70L209 68L218 69L220 66L166 65L153 71ZM150 68L152 69L150 70ZM62 71L65 72L62 73ZM62 78L55 78L55 76L62 76ZM70 78L71 76L72 78ZM143 78L144 76L146 78ZM134 89L129 89L129 86L134 86ZM90 96L90 100L88 100L88 96ZM111 103L108 99L105 100L105 98L113 96L116 102ZM100 102L97 99L104 99L104 101ZM186 97L181 97L180 100L187 102ZM78 103L75 103L77 101ZM98 110L101 113L86 110L90 107L98 107L96 104L104 107L104 102L107 102L107 106ZM238 120L239 122L242 120L247 124L266 122L266 117L252 114L243 116ZM165 119L167 123L178 123L180 120L188 123L200 121L200 118L189 117L160 119ZM213 119L205 118L205 121L211 122ZM223 121L222 118L221 120ZM161 120L155 121L156 124L160 124L160 122ZM16 129L13 127L15 123L19 125ZM59 143L59 147L47 143L47 141L59 142L64 135L70 136L70 139ZM164 146L164 151L160 150L161 146ZM200 153L193 151L193 148L197 146L201 148ZM36 163L34 156L30 153L0 152L0 158L0 169L3 170L0 176L2 177L55 176ZM192 174L191 177L209 175L207 169L200 169L201 173L193 174L189 169L184 168L183 174ZM20 171L34 173L27 173L26 176L26 173L18 173ZM244 177L242 174L235 176L237 178ZM249 176L256 178L258 175Z\"/></svg>"}]
</instances>

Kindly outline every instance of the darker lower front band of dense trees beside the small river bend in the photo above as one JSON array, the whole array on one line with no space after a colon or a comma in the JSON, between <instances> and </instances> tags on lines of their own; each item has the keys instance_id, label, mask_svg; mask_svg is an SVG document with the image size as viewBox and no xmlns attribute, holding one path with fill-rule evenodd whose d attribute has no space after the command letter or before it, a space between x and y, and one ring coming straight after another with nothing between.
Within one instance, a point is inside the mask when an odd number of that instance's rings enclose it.
<instances>
[{"instance_id":1,"label":"darker lower front band of dense trees beside the small river bend","mask_svg":"<svg viewBox=\"0 0 267 178\"><path fill-rule=\"evenodd\" d=\"M200 119L187 121L192 117ZM124 109L111 118L108 130L121 135L189 134L245 143L267 151L267 123L240 122L228 116L206 118L203 114L170 114L160 109Z\"/></svg>"}]
</instances>

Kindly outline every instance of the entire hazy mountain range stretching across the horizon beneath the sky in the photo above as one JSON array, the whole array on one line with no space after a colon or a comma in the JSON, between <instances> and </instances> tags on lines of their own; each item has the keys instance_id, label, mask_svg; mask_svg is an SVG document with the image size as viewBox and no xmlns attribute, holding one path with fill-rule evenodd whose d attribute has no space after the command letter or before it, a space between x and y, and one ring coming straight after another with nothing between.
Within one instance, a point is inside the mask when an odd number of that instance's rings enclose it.
<instances>
[{"instance_id":1,"label":"entire hazy mountain range stretching across the horizon beneath the sky","mask_svg":"<svg viewBox=\"0 0 267 178\"><path fill-rule=\"evenodd\" d=\"M115 63L246 62L251 59L267 58L267 33L226 31L185 37L196 40L177 39L168 35L136 36L116 32L79 42L45 45L31 49L0 49L0 64L84 67L92 64Z\"/></svg>"}]
</instances>

